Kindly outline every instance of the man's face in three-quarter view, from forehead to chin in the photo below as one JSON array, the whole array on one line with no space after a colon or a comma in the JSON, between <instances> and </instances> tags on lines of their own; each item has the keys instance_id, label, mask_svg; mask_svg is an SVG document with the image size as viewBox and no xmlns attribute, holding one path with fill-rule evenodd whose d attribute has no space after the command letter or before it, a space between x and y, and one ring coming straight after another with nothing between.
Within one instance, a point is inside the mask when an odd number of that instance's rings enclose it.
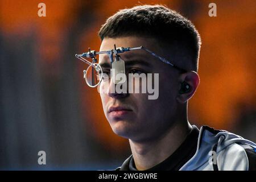
<instances>
[{"instance_id":1,"label":"man's face in three-quarter view, from forehead to chin","mask_svg":"<svg viewBox=\"0 0 256 182\"><path fill-rule=\"evenodd\" d=\"M143 46L156 54L170 59L163 53L155 39L127 36L105 38L100 51L117 47ZM152 140L161 137L172 125L177 112L176 96L179 90L179 72L144 50L128 51L120 54L125 60L126 73L159 73L159 97L148 100L148 93L104 92L106 81L100 84L100 96L106 118L115 134L132 140ZM144 62L146 64L144 64ZM104 70L110 60L108 55L100 55L99 64ZM108 68L109 69L109 68ZM128 77L127 77L128 79ZM113 81L109 81L109 87ZM154 85L154 81L153 84Z\"/></svg>"}]
</instances>

